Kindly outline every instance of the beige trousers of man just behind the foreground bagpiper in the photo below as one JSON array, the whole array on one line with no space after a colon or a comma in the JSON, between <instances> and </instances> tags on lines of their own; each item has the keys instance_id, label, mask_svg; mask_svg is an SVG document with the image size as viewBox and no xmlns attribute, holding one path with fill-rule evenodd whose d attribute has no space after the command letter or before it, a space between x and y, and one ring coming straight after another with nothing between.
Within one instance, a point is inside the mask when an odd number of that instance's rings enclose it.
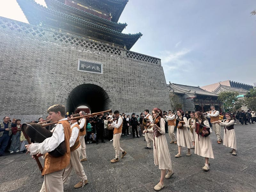
<instances>
[{"instance_id":1,"label":"beige trousers of man just behind the foreground bagpiper","mask_svg":"<svg viewBox=\"0 0 256 192\"><path fill-rule=\"evenodd\" d=\"M80 162L80 151L81 145L75 151L70 152L70 163L65 169L63 175L63 183L65 183L68 180L68 176L70 175L72 168L74 168L79 180L87 180L87 176L84 173L84 167Z\"/></svg>"}]
</instances>

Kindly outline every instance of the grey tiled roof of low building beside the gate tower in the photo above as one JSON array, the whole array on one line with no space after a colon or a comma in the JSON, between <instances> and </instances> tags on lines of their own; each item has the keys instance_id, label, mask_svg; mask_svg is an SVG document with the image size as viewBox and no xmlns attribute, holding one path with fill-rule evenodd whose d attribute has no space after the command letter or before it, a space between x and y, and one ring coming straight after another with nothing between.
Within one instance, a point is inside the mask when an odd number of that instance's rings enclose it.
<instances>
[{"instance_id":1,"label":"grey tiled roof of low building beside the gate tower","mask_svg":"<svg viewBox=\"0 0 256 192\"><path fill-rule=\"evenodd\" d=\"M174 92L174 93L177 93L177 94L206 95L206 96L218 97L218 94L208 92L204 89L201 89L200 87L174 84L174 83L171 83L171 82L169 82L168 86L171 88L171 90L170 90L171 92Z\"/></svg>"}]
</instances>

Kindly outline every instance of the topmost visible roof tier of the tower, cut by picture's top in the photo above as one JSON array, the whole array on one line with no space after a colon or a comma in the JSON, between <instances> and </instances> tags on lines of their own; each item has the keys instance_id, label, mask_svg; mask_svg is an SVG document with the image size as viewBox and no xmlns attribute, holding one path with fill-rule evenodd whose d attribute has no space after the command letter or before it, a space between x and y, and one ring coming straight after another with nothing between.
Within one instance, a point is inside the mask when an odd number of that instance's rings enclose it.
<instances>
[{"instance_id":1,"label":"topmost visible roof tier of the tower, cut by picture's top","mask_svg":"<svg viewBox=\"0 0 256 192\"><path fill-rule=\"evenodd\" d=\"M65 0L59 0L64 3ZM98 10L111 13L112 21L117 22L129 0L75 0L77 3L88 5ZM48 5L47 5L48 6Z\"/></svg>"}]
</instances>

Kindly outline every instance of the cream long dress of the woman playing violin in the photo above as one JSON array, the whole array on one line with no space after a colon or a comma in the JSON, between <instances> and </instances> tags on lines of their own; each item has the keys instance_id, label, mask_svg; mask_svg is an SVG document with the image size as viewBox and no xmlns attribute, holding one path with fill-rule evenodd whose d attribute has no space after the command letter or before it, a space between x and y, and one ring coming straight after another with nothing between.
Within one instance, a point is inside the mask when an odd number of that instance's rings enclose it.
<instances>
[{"instance_id":1,"label":"cream long dress of the woman playing violin","mask_svg":"<svg viewBox=\"0 0 256 192\"><path fill-rule=\"evenodd\" d=\"M155 136L153 139L153 148L154 148L154 163L159 165L159 169L172 169L171 156L168 148L168 144L165 137L165 121L163 118L160 119L160 130L161 135L158 137ZM153 133L153 129L148 130L149 133ZM154 136L153 136L154 138Z\"/></svg>"}]
</instances>

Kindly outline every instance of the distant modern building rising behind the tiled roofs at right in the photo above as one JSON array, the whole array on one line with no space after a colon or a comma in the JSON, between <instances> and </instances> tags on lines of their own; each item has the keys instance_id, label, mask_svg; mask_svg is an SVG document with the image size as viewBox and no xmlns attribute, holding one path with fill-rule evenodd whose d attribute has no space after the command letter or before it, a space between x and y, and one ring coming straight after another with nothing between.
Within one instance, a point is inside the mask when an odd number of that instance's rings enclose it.
<instances>
[{"instance_id":1,"label":"distant modern building rising behind the tiled roofs at right","mask_svg":"<svg viewBox=\"0 0 256 192\"><path fill-rule=\"evenodd\" d=\"M238 83L238 82L230 81L230 80L220 81L218 83L214 83L214 84L210 84L210 85L205 85L205 86L203 86L201 88L206 90L206 91L213 92L214 90L216 90L218 88L218 86L220 84L221 85L226 85L226 86L229 86L229 87L245 89L245 90L248 90L248 91L253 88L253 85Z\"/></svg>"}]
</instances>

